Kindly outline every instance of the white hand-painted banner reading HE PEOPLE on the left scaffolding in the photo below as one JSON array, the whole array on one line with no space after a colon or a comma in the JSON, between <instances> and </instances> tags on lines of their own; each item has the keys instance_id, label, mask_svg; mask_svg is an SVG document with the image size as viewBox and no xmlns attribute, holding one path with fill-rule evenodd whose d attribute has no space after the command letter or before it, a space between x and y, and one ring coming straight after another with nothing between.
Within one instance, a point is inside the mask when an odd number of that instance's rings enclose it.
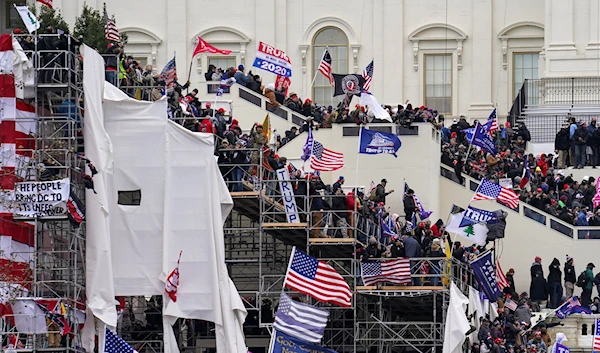
<instances>
[{"instance_id":1,"label":"white hand-painted banner reading HE PEOPLE on the left scaffolding","mask_svg":"<svg viewBox=\"0 0 600 353\"><path fill-rule=\"evenodd\" d=\"M13 213L17 217L64 217L70 191L69 179L15 183Z\"/></svg>"}]
</instances>

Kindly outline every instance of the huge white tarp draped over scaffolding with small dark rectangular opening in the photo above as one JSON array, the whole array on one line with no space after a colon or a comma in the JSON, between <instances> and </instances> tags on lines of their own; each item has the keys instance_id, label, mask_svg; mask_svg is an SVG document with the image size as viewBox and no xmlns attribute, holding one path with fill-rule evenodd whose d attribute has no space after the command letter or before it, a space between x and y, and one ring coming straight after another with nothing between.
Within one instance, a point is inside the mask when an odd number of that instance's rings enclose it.
<instances>
[{"instance_id":1,"label":"huge white tarp draped over scaffolding with small dark rectangular opening","mask_svg":"<svg viewBox=\"0 0 600 353\"><path fill-rule=\"evenodd\" d=\"M102 60L86 54L84 62ZM213 135L169 121L165 99L137 101L108 83L100 98L114 163L105 174L108 212L88 208L86 219L108 214L114 295L163 295L167 353L178 352L169 325L178 317L215 322L217 350L246 353L246 310L225 266L223 221L233 202L213 155ZM98 98L86 92L86 103L90 99ZM89 114L86 109L86 125ZM120 191L138 190L139 205L118 203ZM88 246L88 252L98 250ZM164 280L180 251L177 302L172 302ZM88 291L88 298L96 294Z\"/></svg>"}]
</instances>

